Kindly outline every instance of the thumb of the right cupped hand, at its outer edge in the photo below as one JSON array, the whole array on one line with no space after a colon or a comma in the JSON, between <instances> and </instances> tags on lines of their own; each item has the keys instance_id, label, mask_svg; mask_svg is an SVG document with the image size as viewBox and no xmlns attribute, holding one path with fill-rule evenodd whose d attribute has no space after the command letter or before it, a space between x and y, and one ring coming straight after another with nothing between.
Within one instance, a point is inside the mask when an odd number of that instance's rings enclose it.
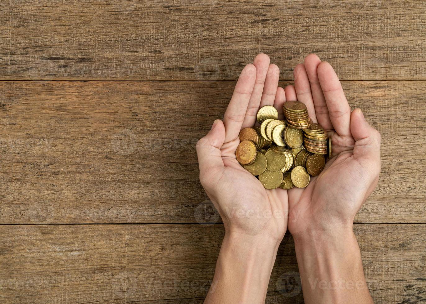
<instances>
[{"instance_id":1,"label":"thumb of the right cupped hand, at its outer edge","mask_svg":"<svg viewBox=\"0 0 426 304\"><path fill-rule=\"evenodd\" d=\"M351 133L355 158L368 159L380 169L380 133L368 124L361 109L351 113Z\"/></svg>"}]
</instances>

